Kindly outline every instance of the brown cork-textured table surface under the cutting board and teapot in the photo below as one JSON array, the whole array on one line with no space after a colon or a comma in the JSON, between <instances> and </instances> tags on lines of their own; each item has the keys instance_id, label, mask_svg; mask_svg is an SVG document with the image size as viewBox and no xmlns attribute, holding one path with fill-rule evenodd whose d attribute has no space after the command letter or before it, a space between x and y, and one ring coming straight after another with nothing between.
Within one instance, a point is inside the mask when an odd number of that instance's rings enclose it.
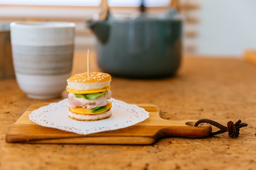
<instances>
[{"instance_id":1,"label":"brown cork-textured table surface under the cutting board and teapot","mask_svg":"<svg viewBox=\"0 0 256 170\"><path fill-rule=\"evenodd\" d=\"M72 74L86 72L86 51L76 51ZM90 52L91 71L101 71ZM83 64L81 64L83 63ZM207 138L165 137L149 145L13 144L11 126L31 104L15 77L0 79L1 170L253 170L256 167L256 66L228 57L185 56L174 77L126 79L112 76L112 97L154 104L167 120L212 119L227 126L248 124L237 138L227 132ZM216 130L213 128L213 130ZM217 129L218 130L218 129Z\"/></svg>"}]
</instances>

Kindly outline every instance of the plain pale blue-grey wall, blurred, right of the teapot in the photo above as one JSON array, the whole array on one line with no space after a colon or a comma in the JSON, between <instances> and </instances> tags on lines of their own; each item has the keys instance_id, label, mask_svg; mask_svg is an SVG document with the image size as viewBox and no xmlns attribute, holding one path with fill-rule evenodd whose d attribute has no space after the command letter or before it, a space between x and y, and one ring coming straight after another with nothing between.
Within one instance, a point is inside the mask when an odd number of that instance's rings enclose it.
<instances>
[{"instance_id":1,"label":"plain pale blue-grey wall, blurred, right of the teapot","mask_svg":"<svg viewBox=\"0 0 256 170\"><path fill-rule=\"evenodd\" d=\"M256 49L256 0L201 0L197 53L241 57Z\"/></svg>"}]
</instances>

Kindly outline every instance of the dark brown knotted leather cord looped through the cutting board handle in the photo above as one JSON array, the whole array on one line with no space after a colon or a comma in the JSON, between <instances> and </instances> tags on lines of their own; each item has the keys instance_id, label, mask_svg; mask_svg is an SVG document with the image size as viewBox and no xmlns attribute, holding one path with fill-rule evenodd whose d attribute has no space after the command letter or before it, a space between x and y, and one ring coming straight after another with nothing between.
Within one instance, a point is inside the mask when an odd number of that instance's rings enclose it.
<instances>
[{"instance_id":1,"label":"dark brown knotted leather cord looped through the cutting board handle","mask_svg":"<svg viewBox=\"0 0 256 170\"><path fill-rule=\"evenodd\" d=\"M240 128L247 126L247 123L241 123L242 121L239 119L235 124L232 121L229 121L227 123L227 127L223 126L221 124L219 124L216 121L213 120L209 120L209 119L200 119L198 120L194 126L198 126L201 123L207 123L207 124L211 124L217 128L219 128L220 130L218 130L217 132L212 132L210 136L214 136L214 135L218 135L224 132L228 132L229 133L229 137L238 137L238 135L240 134Z\"/></svg>"}]
</instances>

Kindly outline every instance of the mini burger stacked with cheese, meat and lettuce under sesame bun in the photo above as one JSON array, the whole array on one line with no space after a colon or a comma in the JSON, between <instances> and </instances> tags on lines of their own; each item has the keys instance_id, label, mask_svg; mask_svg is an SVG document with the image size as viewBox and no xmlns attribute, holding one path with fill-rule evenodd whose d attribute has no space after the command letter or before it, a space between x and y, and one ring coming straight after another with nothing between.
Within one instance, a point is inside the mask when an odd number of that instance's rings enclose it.
<instances>
[{"instance_id":1,"label":"mini burger stacked with cheese, meat and lettuce under sesame bun","mask_svg":"<svg viewBox=\"0 0 256 170\"><path fill-rule=\"evenodd\" d=\"M81 121L96 121L111 116L111 76L107 73L80 73L67 79L69 117Z\"/></svg>"}]
</instances>

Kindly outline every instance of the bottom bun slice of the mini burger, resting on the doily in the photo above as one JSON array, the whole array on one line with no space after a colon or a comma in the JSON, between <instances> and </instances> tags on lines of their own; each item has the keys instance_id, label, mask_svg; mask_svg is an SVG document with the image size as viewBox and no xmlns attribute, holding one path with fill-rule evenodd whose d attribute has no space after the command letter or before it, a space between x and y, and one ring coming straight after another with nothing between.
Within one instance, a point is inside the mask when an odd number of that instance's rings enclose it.
<instances>
[{"instance_id":1,"label":"bottom bun slice of the mini burger, resting on the doily","mask_svg":"<svg viewBox=\"0 0 256 170\"><path fill-rule=\"evenodd\" d=\"M81 120L81 121L97 121L97 120L106 119L106 118L110 117L111 115L112 115L111 109L104 113L97 114L97 115L78 114L78 113L71 112L69 110L68 117L70 117L71 119L76 119L76 120Z\"/></svg>"}]
</instances>

